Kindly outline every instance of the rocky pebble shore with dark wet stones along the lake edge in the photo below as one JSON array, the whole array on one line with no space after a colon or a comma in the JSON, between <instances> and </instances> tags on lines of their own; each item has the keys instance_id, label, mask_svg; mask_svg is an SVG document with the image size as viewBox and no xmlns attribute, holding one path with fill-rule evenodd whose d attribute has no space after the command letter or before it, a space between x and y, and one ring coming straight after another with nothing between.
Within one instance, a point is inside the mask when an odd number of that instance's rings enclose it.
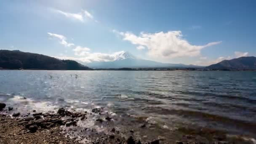
<instances>
[{"instance_id":1,"label":"rocky pebble shore with dark wet stones along the lake edge","mask_svg":"<svg viewBox=\"0 0 256 144\"><path fill-rule=\"evenodd\" d=\"M163 136L154 138L154 132L147 129L150 127L147 123L137 125L138 129L143 129L149 134L149 137L140 137L135 134L139 130L132 129L129 125L125 125L122 130L117 128L111 115L104 115L101 108L91 109L91 112L71 112L60 108L56 112L42 113L32 110L27 114L21 114L13 107L6 107L5 104L0 103L0 112L0 144L254 144L255 142L251 139L231 139L224 133L216 131L202 129L198 132L184 128L180 129L180 132L184 133L180 141L168 141ZM101 116L95 120L95 125L106 127L107 133L80 126L81 121L87 120L93 114ZM179 137L175 133L170 135Z\"/></svg>"}]
</instances>

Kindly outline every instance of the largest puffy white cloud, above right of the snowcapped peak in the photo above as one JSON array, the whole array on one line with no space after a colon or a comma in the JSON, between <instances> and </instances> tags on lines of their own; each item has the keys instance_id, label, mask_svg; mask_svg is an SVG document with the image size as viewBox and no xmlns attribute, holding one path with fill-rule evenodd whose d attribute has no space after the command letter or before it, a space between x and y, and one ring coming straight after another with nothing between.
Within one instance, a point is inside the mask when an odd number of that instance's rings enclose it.
<instances>
[{"instance_id":1,"label":"largest puffy white cloud, above right of the snowcapped peak","mask_svg":"<svg viewBox=\"0 0 256 144\"><path fill-rule=\"evenodd\" d=\"M141 32L139 36L131 32L118 32L117 30L113 30L113 32L122 36L123 40L146 47L149 56L157 59L199 56L201 49L221 43L221 41L218 41L206 45L191 45L183 38L181 31Z\"/></svg>"}]
</instances>

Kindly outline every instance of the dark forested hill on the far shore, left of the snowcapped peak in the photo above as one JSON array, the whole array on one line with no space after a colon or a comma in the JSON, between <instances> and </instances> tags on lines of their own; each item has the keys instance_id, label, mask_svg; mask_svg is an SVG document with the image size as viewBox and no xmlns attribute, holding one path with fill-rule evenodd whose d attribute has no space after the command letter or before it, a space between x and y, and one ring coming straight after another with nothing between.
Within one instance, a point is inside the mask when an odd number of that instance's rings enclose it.
<instances>
[{"instance_id":1,"label":"dark forested hill on the far shore, left of the snowcapped peak","mask_svg":"<svg viewBox=\"0 0 256 144\"><path fill-rule=\"evenodd\" d=\"M91 68L72 60L60 60L37 53L0 50L3 69L89 70Z\"/></svg>"}]
</instances>

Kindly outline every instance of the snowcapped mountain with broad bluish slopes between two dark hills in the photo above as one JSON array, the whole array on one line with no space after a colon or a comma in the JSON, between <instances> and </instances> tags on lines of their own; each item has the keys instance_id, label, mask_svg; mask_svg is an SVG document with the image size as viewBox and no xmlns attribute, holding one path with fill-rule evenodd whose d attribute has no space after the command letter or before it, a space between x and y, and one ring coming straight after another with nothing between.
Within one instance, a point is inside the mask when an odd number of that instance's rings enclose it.
<instances>
[{"instance_id":1,"label":"snowcapped mountain with broad bluish slopes between two dark hills","mask_svg":"<svg viewBox=\"0 0 256 144\"><path fill-rule=\"evenodd\" d=\"M156 61L150 61L145 59L136 58L131 53L127 51L121 51L115 53L113 56L113 61L104 62L91 62L86 64L88 67L95 69L109 69L109 68L202 68L202 66L195 65L185 65L185 64L168 64Z\"/></svg>"}]
</instances>

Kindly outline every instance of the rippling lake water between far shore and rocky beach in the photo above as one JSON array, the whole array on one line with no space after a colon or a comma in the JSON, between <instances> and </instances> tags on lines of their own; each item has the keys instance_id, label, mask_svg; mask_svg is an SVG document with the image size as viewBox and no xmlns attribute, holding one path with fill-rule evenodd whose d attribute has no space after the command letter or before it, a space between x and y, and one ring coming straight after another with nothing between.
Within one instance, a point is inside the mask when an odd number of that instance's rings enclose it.
<instances>
[{"instance_id":1,"label":"rippling lake water between far shore and rocky beach","mask_svg":"<svg viewBox=\"0 0 256 144\"><path fill-rule=\"evenodd\" d=\"M0 102L21 112L104 107L159 131L186 124L256 136L256 72L4 70L0 85Z\"/></svg>"}]
</instances>

